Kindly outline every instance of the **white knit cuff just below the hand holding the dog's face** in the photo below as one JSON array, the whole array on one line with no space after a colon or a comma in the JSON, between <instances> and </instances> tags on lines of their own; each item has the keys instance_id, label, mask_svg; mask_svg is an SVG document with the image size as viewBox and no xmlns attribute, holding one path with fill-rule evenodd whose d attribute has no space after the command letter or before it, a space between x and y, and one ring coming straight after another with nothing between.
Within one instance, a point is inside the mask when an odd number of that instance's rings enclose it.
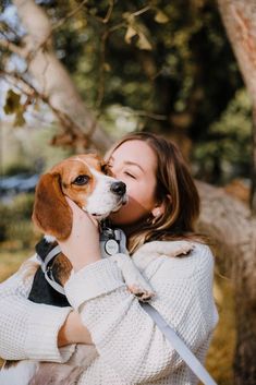
<instances>
[{"instance_id":1,"label":"white knit cuff just below the hand holding the dog's face","mask_svg":"<svg viewBox=\"0 0 256 385\"><path fill-rule=\"evenodd\" d=\"M78 310L85 301L107 294L122 286L125 286L122 273L109 256L72 274L64 289L71 305Z\"/></svg>"}]
</instances>

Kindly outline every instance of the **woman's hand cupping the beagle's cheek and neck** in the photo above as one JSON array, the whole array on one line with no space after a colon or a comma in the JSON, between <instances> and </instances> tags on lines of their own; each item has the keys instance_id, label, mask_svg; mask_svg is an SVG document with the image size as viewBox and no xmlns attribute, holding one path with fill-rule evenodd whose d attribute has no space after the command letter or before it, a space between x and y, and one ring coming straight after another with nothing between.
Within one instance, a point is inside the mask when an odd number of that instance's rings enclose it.
<instances>
[{"instance_id":1,"label":"woman's hand cupping the beagle's cheek and neck","mask_svg":"<svg viewBox=\"0 0 256 385\"><path fill-rule=\"evenodd\" d=\"M73 225L70 237L58 243L68 256L75 272L101 258L99 248L98 224L83 212L73 201L66 197L73 212Z\"/></svg>"}]
</instances>

